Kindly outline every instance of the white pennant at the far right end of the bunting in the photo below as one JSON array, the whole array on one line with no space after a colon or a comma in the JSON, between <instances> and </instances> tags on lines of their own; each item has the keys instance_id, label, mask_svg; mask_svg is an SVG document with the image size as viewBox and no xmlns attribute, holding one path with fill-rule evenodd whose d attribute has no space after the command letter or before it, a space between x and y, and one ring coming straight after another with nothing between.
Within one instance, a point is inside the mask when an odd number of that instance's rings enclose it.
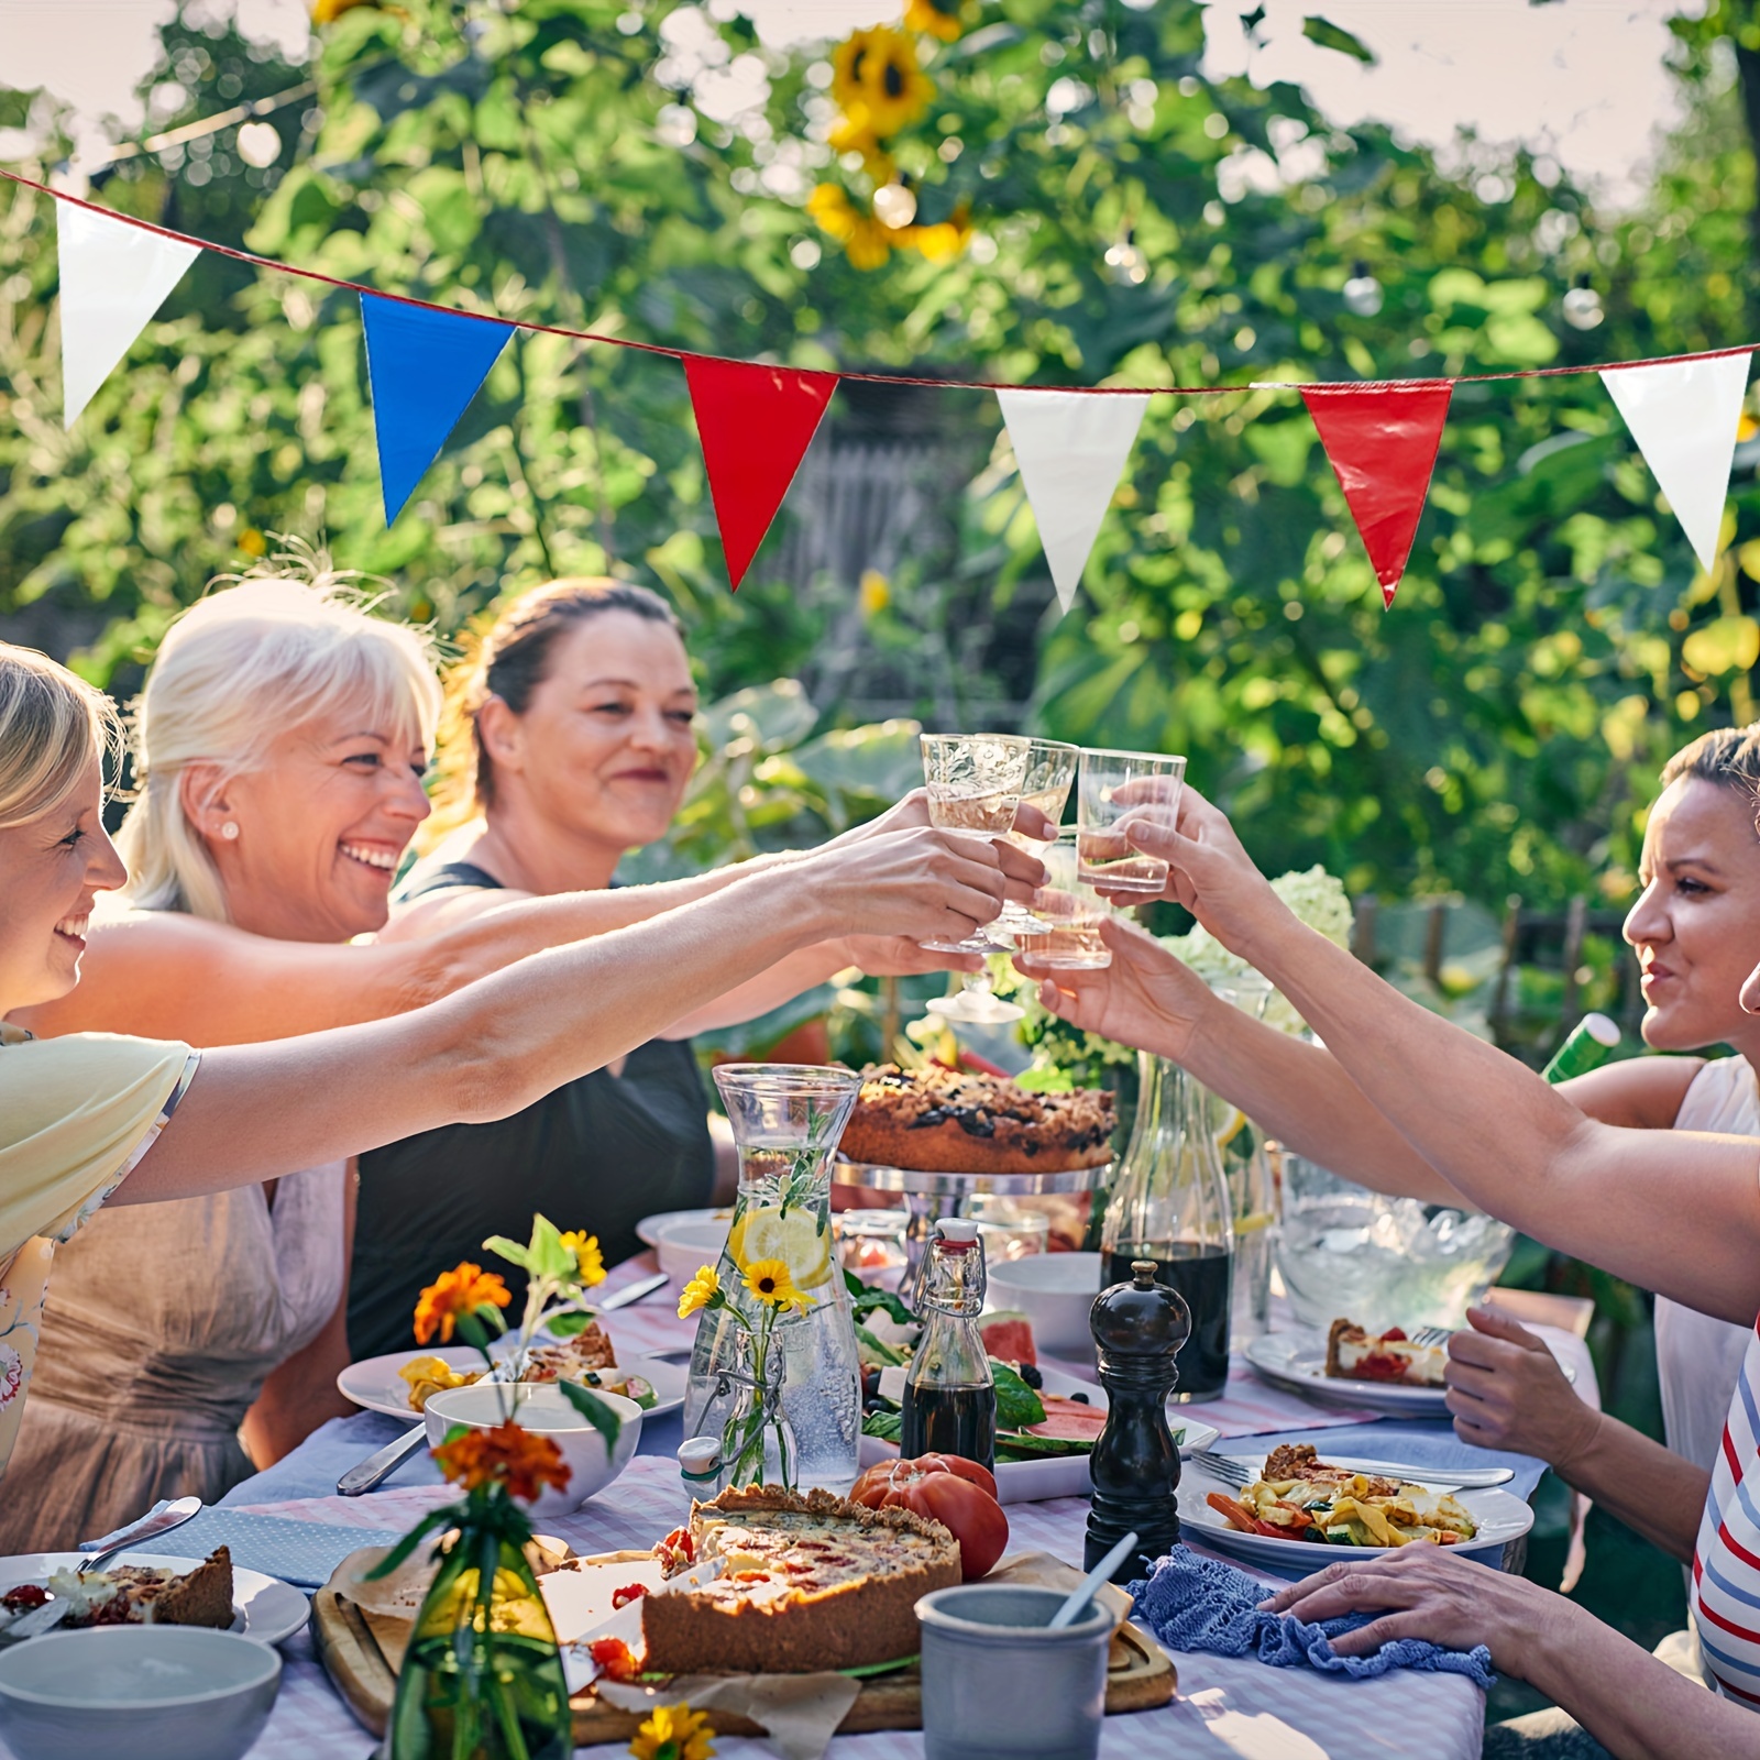
<instances>
[{"instance_id":1,"label":"white pennant at the far right end of the bunting","mask_svg":"<svg viewBox=\"0 0 1760 1760\"><path fill-rule=\"evenodd\" d=\"M1751 350L1714 361L1610 366L1602 384L1626 419L1656 486L1668 496L1686 542L1709 574L1718 560L1723 498L1742 419Z\"/></svg>"}]
</instances>

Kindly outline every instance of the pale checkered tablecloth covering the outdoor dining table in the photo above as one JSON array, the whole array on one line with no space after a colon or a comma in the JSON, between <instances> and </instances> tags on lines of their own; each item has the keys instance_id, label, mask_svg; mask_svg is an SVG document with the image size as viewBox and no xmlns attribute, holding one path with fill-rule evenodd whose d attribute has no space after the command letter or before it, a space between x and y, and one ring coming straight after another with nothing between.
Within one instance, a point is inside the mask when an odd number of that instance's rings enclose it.
<instances>
[{"instance_id":1,"label":"pale checkered tablecloth covering the outdoor dining table","mask_svg":"<svg viewBox=\"0 0 1760 1760\"><path fill-rule=\"evenodd\" d=\"M653 1269L651 1260L620 1265L605 1290L614 1290L648 1269ZM607 1324L625 1352L688 1348L695 1329L692 1322L678 1320L674 1304L676 1292L660 1290L618 1311ZM1593 1369L1589 1378L1593 1387ZM1360 1412L1316 1408L1241 1373L1230 1376L1223 1399L1200 1410L1227 1436L1255 1434L1267 1443L1343 1424L1357 1424L1368 1431ZM396 1436L401 1427L392 1419L366 1413L327 1424L268 1473L236 1487L225 1498L225 1507L294 1521L336 1522L357 1529L363 1545L403 1533L445 1496L433 1482L429 1463L414 1461L400 1482L366 1498L333 1494L341 1468ZM676 1419L655 1424L653 1436L644 1429L642 1452L616 1484L574 1515L546 1522L546 1529L561 1535L579 1552L651 1545L688 1507L672 1457L676 1429ZM1463 1448L1454 1443L1445 1424L1382 1424L1375 1431L1389 1445L1397 1436L1404 1447L1422 1447L1422 1452L1401 1457L1434 1459L1440 1464L1450 1452ZM1338 1447L1341 1452L1346 1447L1366 1452L1371 1441L1366 1436L1346 1445L1339 1438ZM1519 1457L1503 1459L1521 1464ZM1512 1489L1531 1489L1535 1477L1536 1470L1522 1475L1526 1482L1519 1480ZM1086 1517L1088 1503L1079 1498L1010 1505L1012 1547L1040 1549L1079 1563ZM331 1690L313 1656L310 1637L301 1633L292 1639L282 1646L282 1693L250 1760L368 1760L375 1748L373 1737L361 1730ZM1174 1661L1179 1668L1177 1700L1162 1711L1109 1718L1100 1749L1104 1760L1139 1760L1144 1755L1177 1755L1179 1760L1478 1756L1484 1698L1457 1676L1406 1670L1378 1681L1345 1681L1308 1668L1267 1668L1257 1661L1195 1653L1177 1654ZM769 1753L762 1742L736 1737L722 1739L716 1748L723 1760L759 1760ZM898 1730L838 1737L831 1760L919 1760L920 1755L922 1735ZM0 1760L11 1760L4 1739Z\"/></svg>"}]
</instances>

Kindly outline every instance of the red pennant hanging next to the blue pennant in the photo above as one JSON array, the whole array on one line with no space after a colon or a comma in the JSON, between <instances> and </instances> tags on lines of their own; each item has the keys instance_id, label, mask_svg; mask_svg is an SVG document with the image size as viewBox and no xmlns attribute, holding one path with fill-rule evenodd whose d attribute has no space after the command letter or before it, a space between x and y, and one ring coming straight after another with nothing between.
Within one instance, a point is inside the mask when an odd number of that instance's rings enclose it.
<instances>
[{"instance_id":1,"label":"red pennant hanging next to the blue pennant","mask_svg":"<svg viewBox=\"0 0 1760 1760\"><path fill-rule=\"evenodd\" d=\"M838 389L838 375L688 354L685 378L727 553L727 579L737 593Z\"/></svg>"}]
</instances>

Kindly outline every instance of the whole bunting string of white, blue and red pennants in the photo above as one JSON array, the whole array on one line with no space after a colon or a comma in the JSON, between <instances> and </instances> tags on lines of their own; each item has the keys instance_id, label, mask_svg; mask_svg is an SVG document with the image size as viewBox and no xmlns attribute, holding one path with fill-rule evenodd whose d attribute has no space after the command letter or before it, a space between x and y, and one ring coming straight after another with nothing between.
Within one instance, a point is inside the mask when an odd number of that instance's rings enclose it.
<instances>
[{"instance_id":1,"label":"whole bunting string of white, blue and red pennants","mask_svg":"<svg viewBox=\"0 0 1760 1760\"><path fill-rule=\"evenodd\" d=\"M913 373L808 371L387 294L322 269L174 232L16 171L0 169L0 178L58 204L62 419L69 428L204 250L359 297L387 524L403 512L514 331L658 354L685 370L734 591L843 378L996 396L1063 612L1075 600L1155 396L1297 392L1369 553L1382 602L1392 607L1424 516L1454 387L1596 373L1695 556L1709 570L1755 352L1755 343L1741 343L1607 366L1246 385L1019 385Z\"/></svg>"}]
</instances>

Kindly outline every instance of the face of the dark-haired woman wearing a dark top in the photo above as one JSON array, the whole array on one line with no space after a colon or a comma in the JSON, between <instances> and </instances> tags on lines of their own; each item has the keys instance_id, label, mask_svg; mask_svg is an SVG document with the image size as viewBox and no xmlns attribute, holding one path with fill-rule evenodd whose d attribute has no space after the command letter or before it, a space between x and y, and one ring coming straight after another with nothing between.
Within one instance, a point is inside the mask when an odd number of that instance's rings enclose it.
<instances>
[{"instance_id":1,"label":"face of the dark-haired woman wearing a dark top","mask_svg":"<svg viewBox=\"0 0 1760 1760\"><path fill-rule=\"evenodd\" d=\"M489 824L551 827L614 866L672 824L697 767L695 715L690 660L671 625L630 611L586 618L556 639L524 715L495 697L482 708Z\"/></svg>"}]
</instances>

